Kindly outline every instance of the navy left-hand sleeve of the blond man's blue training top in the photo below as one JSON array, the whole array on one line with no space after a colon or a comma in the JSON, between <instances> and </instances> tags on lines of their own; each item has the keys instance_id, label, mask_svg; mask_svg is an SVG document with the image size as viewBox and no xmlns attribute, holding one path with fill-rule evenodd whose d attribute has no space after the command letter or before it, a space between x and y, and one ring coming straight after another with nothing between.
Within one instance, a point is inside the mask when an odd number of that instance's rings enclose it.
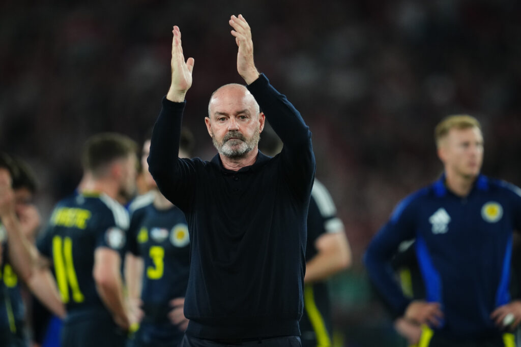
<instances>
[{"instance_id":1,"label":"navy left-hand sleeve of the blond man's blue training top","mask_svg":"<svg viewBox=\"0 0 521 347\"><path fill-rule=\"evenodd\" d=\"M364 254L370 281L397 315L403 315L411 300L405 297L395 279L391 259L402 241L415 237L414 215L413 199L404 199L394 210L391 219L371 240Z\"/></svg>"}]
</instances>

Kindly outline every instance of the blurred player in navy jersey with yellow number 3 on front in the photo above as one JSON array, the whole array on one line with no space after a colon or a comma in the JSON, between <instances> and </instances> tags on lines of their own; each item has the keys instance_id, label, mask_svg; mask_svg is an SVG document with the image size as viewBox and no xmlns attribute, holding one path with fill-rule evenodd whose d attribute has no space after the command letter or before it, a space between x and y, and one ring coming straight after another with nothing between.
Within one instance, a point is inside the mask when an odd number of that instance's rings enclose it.
<instances>
[{"instance_id":1,"label":"blurred player in navy jersey with yellow number 3 on front","mask_svg":"<svg viewBox=\"0 0 521 347\"><path fill-rule=\"evenodd\" d=\"M184 131L179 157L189 158L190 147L191 134ZM134 265L126 275L134 280L127 281L127 286L130 299L134 299L131 302L139 303L137 309L143 311L131 345L177 347L188 325L183 303L188 286L190 238L183 212L157 190L148 172L149 150L150 138L143 144L142 166L144 181L152 189L153 198L150 200L146 195L130 205L127 250L131 255L127 256ZM139 260L132 260L133 257ZM137 261L142 264L135 264ZM137 274L129 274L131 269ZM140 297L141 300L136 300Z\"/></svg>"}]
</instances>

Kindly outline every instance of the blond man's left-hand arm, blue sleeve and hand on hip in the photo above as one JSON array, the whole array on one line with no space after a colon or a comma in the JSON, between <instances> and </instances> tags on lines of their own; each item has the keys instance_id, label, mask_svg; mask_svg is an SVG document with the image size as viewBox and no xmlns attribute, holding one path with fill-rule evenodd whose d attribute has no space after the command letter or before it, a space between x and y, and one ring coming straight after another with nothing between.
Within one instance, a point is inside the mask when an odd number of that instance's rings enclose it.
<instances>
[{"instance_id":1,"label":"blond man's left-hand arm, blue sleeve and hand on hip","mask_svg":"<svg viewBox=\"0 0 521 347\"><path fill-rule=\"evenodd\" d=\"M404 315L419 324L437 326L443 317L440 304L406 298L391 266L391 258L400 243L415 237L415 201L411 196L396 207L389 222L369 243L364 263L369 279L396 315Z\"/></svg>"}]
</instances>

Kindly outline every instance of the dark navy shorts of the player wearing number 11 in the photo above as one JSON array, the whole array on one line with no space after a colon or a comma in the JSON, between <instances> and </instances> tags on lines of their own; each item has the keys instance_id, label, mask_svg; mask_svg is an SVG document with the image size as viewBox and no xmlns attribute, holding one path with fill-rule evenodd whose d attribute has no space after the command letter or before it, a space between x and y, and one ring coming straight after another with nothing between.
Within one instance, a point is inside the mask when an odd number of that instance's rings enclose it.
<instances>
[{"instance_id":1,"label":"dark navy shorts of the player wearing number 11","mask_svg":"<svg viewBox=\"0 0 521 347\"><path fill-rule=\"evenodd\" d=\"M69 313L61 329L61 345L74 347L125 347L127 333L105 310Z\"/></svg>"}]
</instances>

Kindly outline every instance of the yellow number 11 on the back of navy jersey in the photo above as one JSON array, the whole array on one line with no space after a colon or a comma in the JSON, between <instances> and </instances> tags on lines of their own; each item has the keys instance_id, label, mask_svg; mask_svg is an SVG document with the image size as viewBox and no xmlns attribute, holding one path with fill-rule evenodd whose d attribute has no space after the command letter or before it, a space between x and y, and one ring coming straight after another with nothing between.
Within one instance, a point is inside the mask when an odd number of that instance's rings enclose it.
<instances>
[{"instance_id":1,"label":"yellow number 11 on the back of navy jersey","mask_svg":"<svg viewBox=\"0 0 521 347\"><path fill-rule=\"evenodd\" d=\"M60 236L53 237L53 259L56 271L56 281L61 294L61 301L69 302L69 286L72 291L72 300L83 302L85 299L78 285L78 277L72 263L72 240Z\"/></svg>"}]
</instances>

